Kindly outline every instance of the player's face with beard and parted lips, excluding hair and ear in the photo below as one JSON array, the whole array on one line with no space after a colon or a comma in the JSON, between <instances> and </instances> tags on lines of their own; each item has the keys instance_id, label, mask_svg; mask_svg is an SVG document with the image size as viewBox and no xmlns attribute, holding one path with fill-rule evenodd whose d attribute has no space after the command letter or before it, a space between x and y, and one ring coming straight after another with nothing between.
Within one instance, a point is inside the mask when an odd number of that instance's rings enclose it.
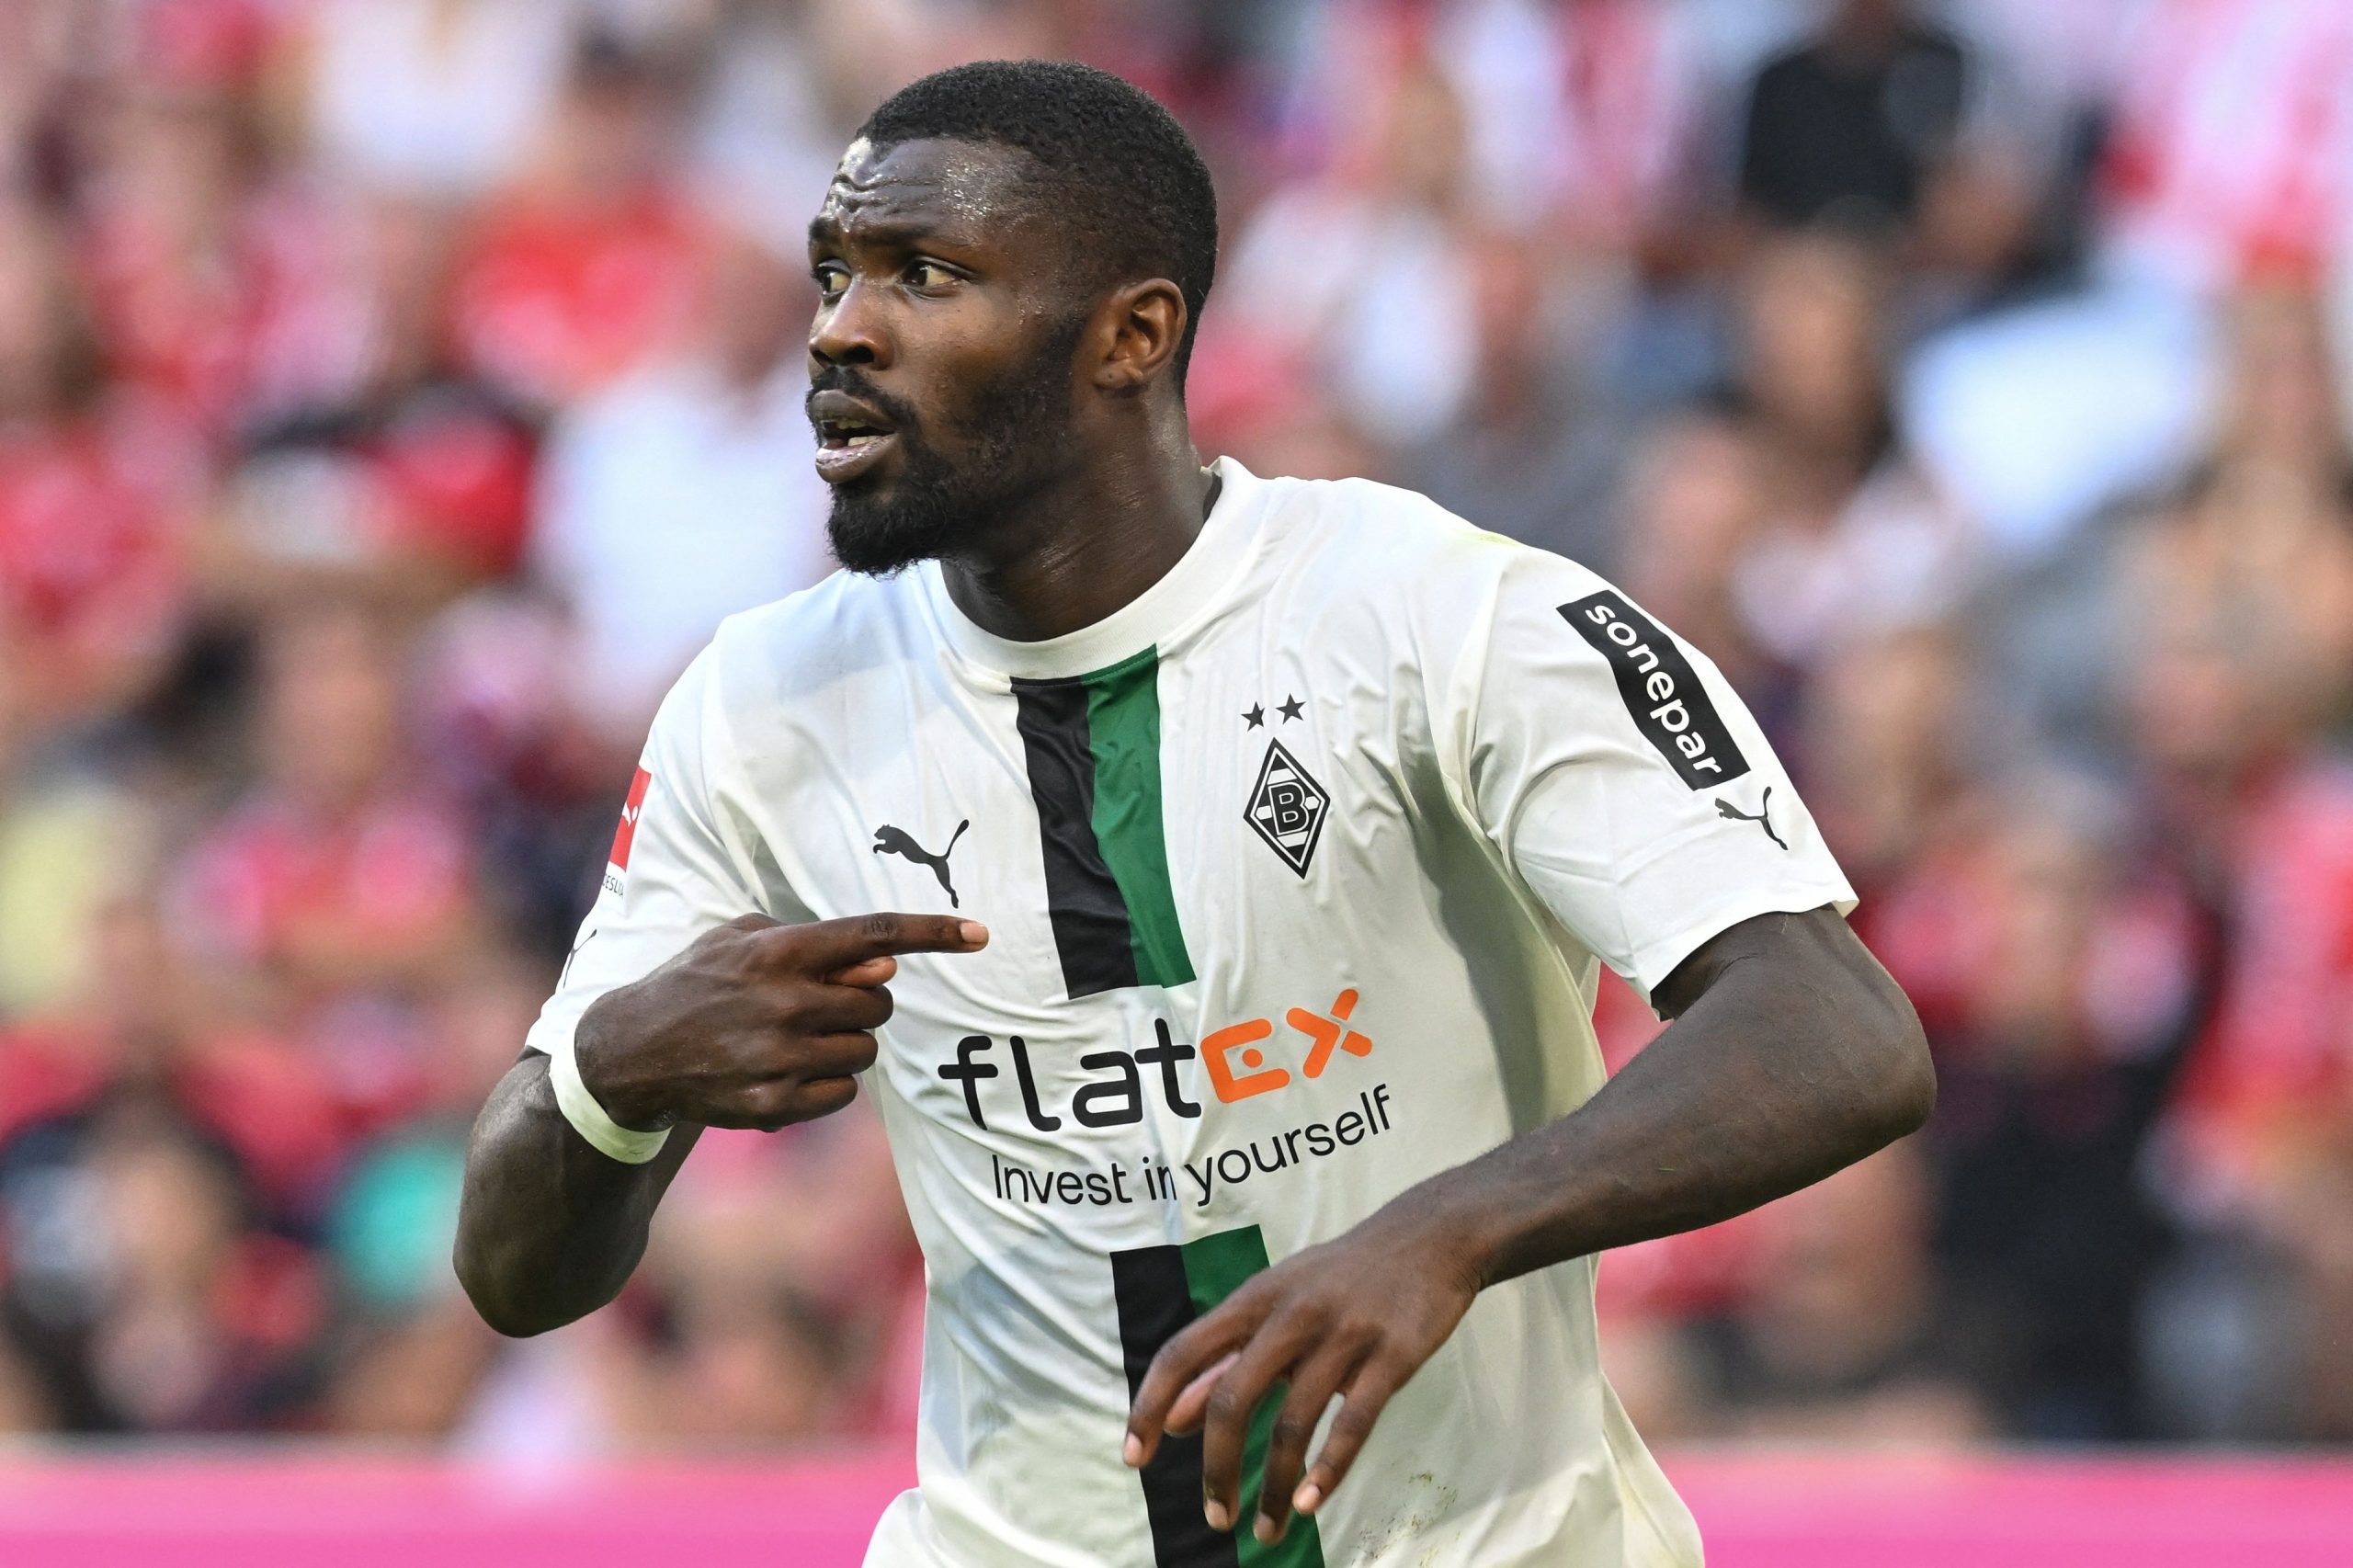
<instances>
[{"instance_id":1,"label":"player's face with beard and parted lips, excluding hair and ear","mask_svg":"<svg viewBox=\"0 0 2353 1568\"><path fill-rule=\"evenodd\" d=\"M849 144L809 224L809 424L852 572L896 572L1075 466L1087 301L1033 217L1026 153Z\"/></svg>"}]
</instances>

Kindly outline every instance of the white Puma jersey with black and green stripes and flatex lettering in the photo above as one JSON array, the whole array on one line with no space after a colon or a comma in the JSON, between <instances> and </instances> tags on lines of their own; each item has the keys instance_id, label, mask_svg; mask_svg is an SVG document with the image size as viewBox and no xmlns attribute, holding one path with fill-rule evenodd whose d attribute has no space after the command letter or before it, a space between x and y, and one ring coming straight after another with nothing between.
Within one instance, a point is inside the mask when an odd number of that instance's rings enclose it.
<instances>
[{"instance_id":1,"label":"white Puma jersey with black and green stripes and flatex lettering","mask_svg":"<svg viewBox=\"0 0 2353 1568\"><path fill-rule=\"evenodd\" d=\"M936 565L729 619L532 1045L746 911L988 925L901 958L866 1074L929 1281L873 1566L1699 1563L1591 1257L1485 1290L1278 1547L1207 1530L1198 1439L1120 1462L1179 1328L1602 1085L1600 963L1647 994L1854 897L1722 676L1584 567L1384 485L1219 476L1184 560L1064 638L981 631Z\"/></svg>"}]
</instances>

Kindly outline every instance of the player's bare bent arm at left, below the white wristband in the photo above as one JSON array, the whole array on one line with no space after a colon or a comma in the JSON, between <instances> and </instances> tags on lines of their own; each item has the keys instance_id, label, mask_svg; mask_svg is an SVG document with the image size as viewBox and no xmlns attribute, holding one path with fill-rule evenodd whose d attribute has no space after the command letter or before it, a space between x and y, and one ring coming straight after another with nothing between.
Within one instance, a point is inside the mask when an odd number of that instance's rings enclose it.
<instances>
[{"instance_id":1,"label":"player's bare bent arm at left, below the white wristband","mask_svg":"<svg viewBox=\"0 0 2353 1568\"><path fill-rule=\"evenodd\" d=\"M624 1165L555 1109L546 1057L508 1069L473 1123L456 1227L456 1276L482 1318L536 1335L619 1295L699 1132L673 1128L661 1154Z\"/></svg>"}]
</instances>

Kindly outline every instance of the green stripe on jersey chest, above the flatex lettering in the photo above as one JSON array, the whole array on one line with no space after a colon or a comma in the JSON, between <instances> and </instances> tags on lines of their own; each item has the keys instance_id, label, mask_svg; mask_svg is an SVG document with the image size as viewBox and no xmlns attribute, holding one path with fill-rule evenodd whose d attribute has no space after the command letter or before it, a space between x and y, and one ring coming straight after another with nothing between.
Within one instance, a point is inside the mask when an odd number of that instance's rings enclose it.
<instances>
[{"instance_id":1,"label":"green stripe on jersey chest, above the flatex lettering","mask_svg":"<svg viewBox=\"0 0 2353 1568\"><path fill-rule=\"evenodd\" d=\"M1176 925L1160 810L1160 650L1085 676L1087 744L1094 751L1094 841L1127 899L1136 984L1181 986L1193 958Z\"/></svg>"}]
</instances>

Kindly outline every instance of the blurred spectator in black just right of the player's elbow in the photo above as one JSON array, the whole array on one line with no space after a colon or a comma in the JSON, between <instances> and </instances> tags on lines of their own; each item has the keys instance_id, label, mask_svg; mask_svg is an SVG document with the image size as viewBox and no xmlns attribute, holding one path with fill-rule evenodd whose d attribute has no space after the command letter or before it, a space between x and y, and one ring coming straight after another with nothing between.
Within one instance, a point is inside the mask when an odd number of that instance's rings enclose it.
<instances>
[{"instance_id":1,"label":"blurred spectator in black just right of the player's elbow","mask_svg":"<svg viewBox=\"0 0 2353 1568\"><path fill-rule=\"evenodd\" d=\"M1932 1036L1944 1288L2000 1347L1981 1396L2035 1441L2148 1420L2137 1344L2169 1227L2144 1165L2214 1003L2209 911L2162 855L2127 859L2106 805L2035 779L1986 812L1960 890L1977 972Z\"/></svg>"}]
</instances>

